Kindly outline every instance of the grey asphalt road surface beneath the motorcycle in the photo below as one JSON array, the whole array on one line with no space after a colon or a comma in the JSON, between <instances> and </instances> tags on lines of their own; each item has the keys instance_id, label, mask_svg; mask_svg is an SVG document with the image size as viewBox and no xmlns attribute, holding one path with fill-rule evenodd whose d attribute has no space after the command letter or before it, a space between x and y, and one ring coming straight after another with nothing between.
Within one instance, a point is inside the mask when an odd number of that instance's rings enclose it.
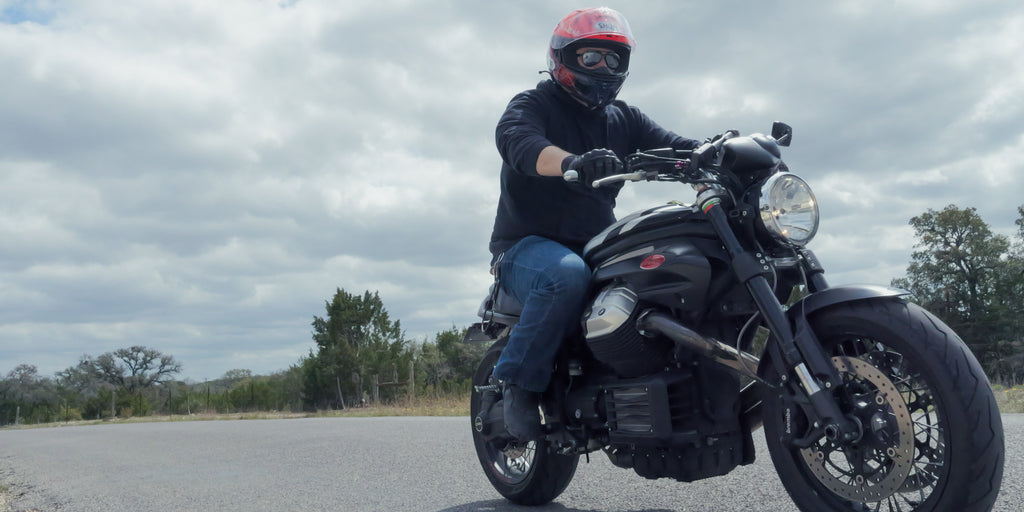
<instances>
[{"instance_id":1,"label":"grey asphalt road surface beneath the motorcycle","mask_svg":"<svg viewBox=\"0 0 1024 512\"><path fill-rule=\"evenodd\" d=\"M998 512L1024 510L1024 415L1002 417ZM14 511L795 512L758 433L759 460L694 483L646 480L602 455L555 503L490 487L467 418L138 423L0 431Z\"/></svg>"}]
</instances>

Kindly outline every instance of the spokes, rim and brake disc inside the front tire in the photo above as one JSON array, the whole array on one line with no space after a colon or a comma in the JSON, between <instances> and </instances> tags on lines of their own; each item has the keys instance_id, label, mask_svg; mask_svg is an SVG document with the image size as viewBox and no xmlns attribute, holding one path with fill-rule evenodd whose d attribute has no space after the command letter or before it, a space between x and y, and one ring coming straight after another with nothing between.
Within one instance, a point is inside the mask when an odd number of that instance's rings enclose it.
<instances>
[{"instance_id":1,"label":"spokes, rim and brake disc inside the front tire","mask_svg":"<svg viewBox=\"0 0 1024 512\"><path fill-rule=\"evenodd\" d=\"M865 434L853 444L819 441L803 451L803 459L815 478L851 505L914 510L935 490L944 465L933 392L903 354L882 343L858 338L833 346L844 379L837 399Z\"/></svg>"}]
</instances>

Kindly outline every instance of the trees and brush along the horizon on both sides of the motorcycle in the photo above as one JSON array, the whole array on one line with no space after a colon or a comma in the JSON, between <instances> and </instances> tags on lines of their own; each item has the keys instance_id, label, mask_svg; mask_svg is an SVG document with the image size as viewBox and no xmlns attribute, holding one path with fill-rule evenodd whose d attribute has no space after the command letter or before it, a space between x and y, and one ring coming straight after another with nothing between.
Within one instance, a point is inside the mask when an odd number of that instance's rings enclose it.
<instances>
[{"instance_id":1,"label":"trees and brush along the horizon on both sides of the motorcycle","mask_svg":"<svg viewBox=\"0 0 1024 512\"><path fill-rule=\"evenodd\" d=\"M995 234L976 209L949 205L910 219L916 244L892 286L948 324L994 385L1004 413L1024 413L1024 206L1017 232ZM23 364L0 379L0 426L306 416L468 416L486 349L465 329L406 338L378 293L342 289L312 316L309 353L288 370L180 380L170 354L131 346L53 377Z\"/></svg>"}]
</instances>

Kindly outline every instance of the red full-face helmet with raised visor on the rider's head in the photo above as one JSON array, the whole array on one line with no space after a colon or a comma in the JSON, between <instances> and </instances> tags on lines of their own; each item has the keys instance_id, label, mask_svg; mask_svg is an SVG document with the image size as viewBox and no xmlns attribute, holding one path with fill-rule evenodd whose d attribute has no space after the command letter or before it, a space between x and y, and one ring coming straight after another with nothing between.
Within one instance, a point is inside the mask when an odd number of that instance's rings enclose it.
<instances>
[{"instance_id":1,"label":"red full-face helmet with raised visor on the rider's head","mask_svg":"<svg viewBox=\"0 0 1024 512\"><path fill-rule=\"evenodd\" d=\"M630 52L636 46L630 24L618 11L592 7L570 12L551 35L548 71L551 78L572 97L591 109L605 106L615 99L629 75ZM584 67L580 48L602 48L614 52L608 66ZM610 66L614 61L616 66Z\"/></svg>"}]
</instances>

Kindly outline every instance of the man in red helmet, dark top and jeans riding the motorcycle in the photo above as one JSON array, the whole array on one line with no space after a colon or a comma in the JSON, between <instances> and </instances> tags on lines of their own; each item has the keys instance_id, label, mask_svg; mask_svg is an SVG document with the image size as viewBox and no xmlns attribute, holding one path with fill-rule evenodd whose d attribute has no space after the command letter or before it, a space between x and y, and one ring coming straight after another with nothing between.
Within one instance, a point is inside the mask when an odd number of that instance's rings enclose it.
<instances>
[{"instance_id":1,"label":"man in red helmet, dark top and jeans riding the motorcycle","mask_svg":"<svg viewBox=\"0 0 1024 512\"><path fill-rule=\"evenodd\" d=\"M635 46L620 12L570 12L551 36L550 79L514 96L498 123L492 271L523 308L494 375L503 383L506 428L520 441L541 436L540 395L561 341L579 327L591 276L583 248L614 222L622 183L590 183L621 173L621 159L636 151L698 145L615 99ZM568 170L579 183L562 178Z\"/></svg>"}]
</instances>

